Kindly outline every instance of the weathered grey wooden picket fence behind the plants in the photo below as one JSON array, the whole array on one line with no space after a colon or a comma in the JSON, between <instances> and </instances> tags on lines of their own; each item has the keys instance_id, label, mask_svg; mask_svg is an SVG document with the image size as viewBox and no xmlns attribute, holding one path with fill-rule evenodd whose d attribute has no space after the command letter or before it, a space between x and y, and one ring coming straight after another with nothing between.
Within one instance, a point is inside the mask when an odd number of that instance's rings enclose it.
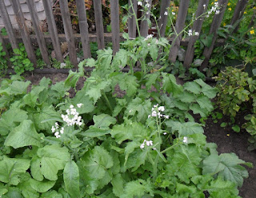
<instances>
[{"instance_id":1,"label":"weathered grey wooden picket fence behind the plants","mask_svg":"<svg viewBox=\"0 0 256 198\"><path fill-rule=\"evenodd\" d=\"M60 42L66 41L68 44L70 61L75 66L78 65L75 42L82 42L83 56L85 58L91 57L90 42L92 41L97 41L98 49L104 49L106 42L112 42L114 54L118 52L118 49L120 47L120 36L122 35L120 34L120 27L119 27L118 0L110 0L110 15L111 15L111 30L112 30L111 34L104 33L103 22L102 22L101 0L93 0L96 35L88 33L86 7L85 7L84 0L76 0L78 23L79 23L79 29L81 34L73 34L67 0L59 1L65 35L58 34L57 26L54 21L54 13L53 13L50 1L48 0L42 1L45 12L46 12L46 21L47 21L50 35L43 34L42 30L39 28L38 16L34 6L34 0L26 0L26 3L30 10L31 21L34 27L35 35L30 35L27 30L24 16L22 14L22 11L20 11L21 6L20 6L19 0L11 0L11 2L14 9L14 14L16 15L16 18L18 21L19 32L21 36L17 36L16 34L14 34L14 30L13 30L13 27L11 26L9 15L7 14L7 11L6 11L4 0L0 0L0 14L3 18L3 22L5 24L6 31L8 34L8 36L2 36L0 34L0 42L3 43L3 46L6 46L5 45L6 42L10 42L12 49L18 48L18 42L23 42L25 45L28 57L34 65L36 65L37 60L36 60L32 42L38 43L43 61L45 61L47 65L50 65L50 58L49 58L50 54L48 54L46 49L47 42L52 44L57 60L62 62L63 56L62 56ZM231 20L231 25L234 25L239 18L242 18L242 14L246 8L247 2L248 0L238 0L237 6L235 7L235 10L234 10L234 16ZM147 3L149 3L151 6L152 0L148 0ZM219 26L221 25L227 3L228 3L228 0L218 0L218 4L220 5L220 10L219 10L220 13L214 15L214 18L210 27L210 34L213 34L214 38L211 46L206 47L203 51L205 60L202 62L202 66L200 69L203 69L204 67L206 67L206 65L208 65L208 62L210 60L210 55L214 49L214 44L218 38L217 31ZM188 12L189 4L190 4L189 0L180 0L179 2L178 18L175 24L175 30L177 34L179 34L185 26L186 14ZM205 12L205 7L207 7L208 4L209 4L209 0L198 1L198 10L196 11L196 14L195 14L196 18L200 16L203 12ZM135 10L136 12L138 10L137 0L129 0L129 5L133 6L133 8L130 6L130 12L132 12L133 10ZM164 37L165 31L166 31L167 17L168 17L166 16L166 9L168 9L170 6L170 0L162 0L160 6L161 6L160 18L159 18L158 26L161 27L160 36ZM146 16L146 17L149 18L150 16ZM204 22L204 18L200 18L200 20L199 19L196 20L193 25L193 30L200 33L203 22ZM149 26L147 25L146 20L142 21L140 23L140 32L142 36L146 37L146 35L148 34L148 30L149 30ZM128 19L128 34L130 38L136 37L136 22L134 17ZM188 69L194 58L194 43L197 41L198 38L199 38L199 35L194 35L194 36L191 36L188 41L184 42L182 41L182 34L181 34L175 40L173 47L170 49L170 55L169 55L170 61L173 61L173 62L176 61L178 49L180 48L181 45L183 46L185 45L187 46L187 48L186 48L186 57L184 61L184 66L186 67L186 69ZM6 50L6 56L8 57L7 49L4 48L4 50Z\"/></svg>"}]
</instances>

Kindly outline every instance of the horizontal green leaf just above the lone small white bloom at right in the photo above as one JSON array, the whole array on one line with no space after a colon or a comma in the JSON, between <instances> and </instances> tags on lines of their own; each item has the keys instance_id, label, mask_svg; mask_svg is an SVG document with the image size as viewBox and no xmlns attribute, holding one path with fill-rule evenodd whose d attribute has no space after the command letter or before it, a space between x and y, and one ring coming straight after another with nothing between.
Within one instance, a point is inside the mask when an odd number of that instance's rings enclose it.
<instances>
[{"instance_id":1,"label":"horizontal green leaf just above the lone small white bloom at right","mask_svg":"<svg viewBox=\"0 0 256 198\"><path fill-rule=\"evenodd\" d=\"M171 127L173 131L178 131L179 136L185 137L194 133L203 133L202 126L196 122L166 121L166 125Z\"/></svg>"}]
</instances>

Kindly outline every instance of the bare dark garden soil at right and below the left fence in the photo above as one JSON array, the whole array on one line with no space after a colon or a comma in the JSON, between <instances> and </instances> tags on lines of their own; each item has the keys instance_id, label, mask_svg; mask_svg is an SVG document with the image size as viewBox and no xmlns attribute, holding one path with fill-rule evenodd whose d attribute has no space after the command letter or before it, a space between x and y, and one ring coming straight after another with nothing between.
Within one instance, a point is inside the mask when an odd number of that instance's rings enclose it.
<instances>
[{"instance_id":1,"label":"bare dark garden soil at right and below the left fence","mask_svg":"<svg viewBox=\"0 0 256 198\"><path fill-rule=\"evenodd\" d=\"M26 77L26 80L31 81L32 85L38 85L38 82L42 77L50 77L53 83L57 81L65 81L66 74L34 74ZM81 89L85 79L80 78L78 81L77 89ZM74 96L74 90L70 91L70 96ZM213 119L209 118L206 121L206 126L204 127L205 135L208 142L214 142L218 145L219 153L230 153L234 152L238 157L246 162L251 162L254 164L254 168L247 168L249 172L249 177L244 180L242 188L239 189L239 195L242 198L256 198L256 150L249 152L247 141L250 135L246 133L244 129L240 133L235 133L231 126L222 128L220 125L222 122L230 122L229 117L223 117L218 120L218 123L214 123ZM243 115L238 115L236 120L237 125L241 126L243 120ZM222 198L222 197L220 197Z\"/></svg>"}]
</instances>

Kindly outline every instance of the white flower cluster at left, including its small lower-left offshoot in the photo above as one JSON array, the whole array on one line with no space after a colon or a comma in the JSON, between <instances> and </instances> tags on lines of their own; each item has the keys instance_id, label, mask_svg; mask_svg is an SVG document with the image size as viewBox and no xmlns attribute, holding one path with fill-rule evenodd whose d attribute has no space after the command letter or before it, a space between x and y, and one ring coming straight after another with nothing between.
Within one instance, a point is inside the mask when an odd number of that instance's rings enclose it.
<instances>
[{"instance_id":1,"label":"white flower cluster at left, including its small lower-left offshoot","mask_svg":"<svg viewBox=\"0 0 256 198\"><path fill-rule=\"evenodd\" d=\"M77 106L78 108L82 107L82 103L79 103ZM70 109L66 109L66 115L62 114L62 120L66 122L68 126L72 125L82 125L82 117L79 116L79 113L77 112L77 109L74 109L74 105L70 105ZM51 127L52 133L54 133L54 136L57 138L60 138L61 135L64 133L64 127L62 127L59 131L59 125L58 122L55 122L55 125Z\"/></svg>"}]
</instances>

